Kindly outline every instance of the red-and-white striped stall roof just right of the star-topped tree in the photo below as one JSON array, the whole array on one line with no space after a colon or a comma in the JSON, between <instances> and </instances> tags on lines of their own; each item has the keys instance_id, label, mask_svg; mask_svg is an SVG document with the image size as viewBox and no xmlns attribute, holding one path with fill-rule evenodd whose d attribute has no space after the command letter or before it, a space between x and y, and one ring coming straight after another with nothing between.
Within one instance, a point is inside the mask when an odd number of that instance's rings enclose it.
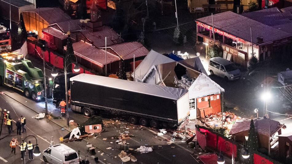
<instances>
[{"instance_id":1,"label":"red-and-white striped stall roof just right of the star-topped tree","mask_svg":"<svg viewBox=\"0 0 292 164\"><path fill-rule=\"evenodd\" d=\"M67 49L67 46L64 46L64 50ZM105 65L105 50L97 49L92 45L79 41L73 43L74 54L78 57L81 57L87 61L92 62L100 67ZM107 53L107 64L120 60L119 57L112 53Z\"/></svg>"}]
</instances>

